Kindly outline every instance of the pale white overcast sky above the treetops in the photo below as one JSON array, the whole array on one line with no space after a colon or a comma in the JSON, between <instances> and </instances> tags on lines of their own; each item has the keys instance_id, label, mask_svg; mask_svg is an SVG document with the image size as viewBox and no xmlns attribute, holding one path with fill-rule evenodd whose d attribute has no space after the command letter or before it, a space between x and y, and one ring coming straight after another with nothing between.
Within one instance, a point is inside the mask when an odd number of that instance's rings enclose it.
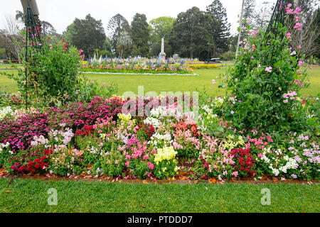
<instances>
[{"instance_id":1,"label":"pale white overcast sky above the treetops","mask_svg":"<svg viewBox=\"0 0 320 227\"><path fill-rule=\"evenodd\" d=\"M0 0L0 29L5 28L5 16L16 15L16 10L22 11L20 0ZM242 0L220 0L227 9L228 21L231 23L231 33L236 33L238 15L241 11ZM261 3L265 0L256 0ZM276 0L270 0L276 2ZM148 19L159 16L176 17L178 13L193 6L206 10L213 0L37 0L41 21L50 22L62 33L75 18L85 18L90 13L96 19L102 20L105 30L110 18L117 13L122 14L129 23L135 13L144 13Z\"/></svg>"}]
</instances>

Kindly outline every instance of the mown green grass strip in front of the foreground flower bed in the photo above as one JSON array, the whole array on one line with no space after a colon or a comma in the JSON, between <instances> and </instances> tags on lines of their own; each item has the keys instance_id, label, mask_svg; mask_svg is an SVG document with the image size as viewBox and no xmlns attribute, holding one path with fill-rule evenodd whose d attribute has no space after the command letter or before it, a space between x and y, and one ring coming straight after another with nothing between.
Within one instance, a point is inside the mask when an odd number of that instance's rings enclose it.
<instances>
[{"instance_id":1,"label":"mown green grass strip in front of the foreground flower bed","mask_svg":"<svg viewBox=\"0 0 320 227\"><path fill-rule=\"evenodd\" d=\"M319 212L319 184L119 184L0 179L0 212ZM48 206L48 189L58 206ZM271 205L261 204L270 189ZM11 191L11 192L6 192Z\"/></svg>"}]
</instances>

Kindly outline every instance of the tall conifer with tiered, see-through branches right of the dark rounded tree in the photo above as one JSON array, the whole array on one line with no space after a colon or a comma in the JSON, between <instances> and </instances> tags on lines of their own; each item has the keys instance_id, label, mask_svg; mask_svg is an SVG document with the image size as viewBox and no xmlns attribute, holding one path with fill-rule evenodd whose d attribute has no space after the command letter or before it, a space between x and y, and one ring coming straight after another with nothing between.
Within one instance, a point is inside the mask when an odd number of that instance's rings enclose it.
<instances>
[{"instance_id":1,"label":"tall conifer with tiered, see-through branches right of the dark rounded tree","mask_svg":"<svg viewBox=\"0 0 320 227\"><path fill-rule=\"evenodd\" d=\"M213 40L213 57L218 53L228 50L228 38L230 37L230 23L228 23L227 11L219 0L213 1L207 6L207 13L212 17L210 28Z\"/></svg>"}]
</instances>

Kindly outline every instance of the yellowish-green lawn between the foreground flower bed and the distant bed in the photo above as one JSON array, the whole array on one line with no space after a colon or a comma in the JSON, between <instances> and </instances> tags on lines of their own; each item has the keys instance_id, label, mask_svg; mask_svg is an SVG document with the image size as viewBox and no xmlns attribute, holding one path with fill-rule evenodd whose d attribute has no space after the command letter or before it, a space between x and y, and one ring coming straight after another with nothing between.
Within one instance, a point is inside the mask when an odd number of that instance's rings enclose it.
<instances>
[{"instance_id":1,"label":"yellowish-green lawn between the foreground flower bed and the distant bed","mask_svg":"<svg viewBox=\"0 0 320 227\"><path fill-rule=\"evenodd\" d=\"M130 91L137 94L138 86L144 86L144 94L149 91L157 92L195 92L196 89L206 88L207 92L214 95L224 95L223 89L218 89L217 84L212 84L217 77L225 73L226 68L214 70L196 70L199 76L174 76L174 75L107 75L107 74L85 74L89 79L94 79L100 84L116 83L119 87L118 95ZM6 70L8 72L9 70ZM1 71L0 72L4 72ZM311 74L311 86L302 89L304 95L316 96L320 92L320 67L313 67L309 70ZM17 92L16 84L13 80L0 75L0 89L8 92Z\"/></svg>"}]
</instances>

